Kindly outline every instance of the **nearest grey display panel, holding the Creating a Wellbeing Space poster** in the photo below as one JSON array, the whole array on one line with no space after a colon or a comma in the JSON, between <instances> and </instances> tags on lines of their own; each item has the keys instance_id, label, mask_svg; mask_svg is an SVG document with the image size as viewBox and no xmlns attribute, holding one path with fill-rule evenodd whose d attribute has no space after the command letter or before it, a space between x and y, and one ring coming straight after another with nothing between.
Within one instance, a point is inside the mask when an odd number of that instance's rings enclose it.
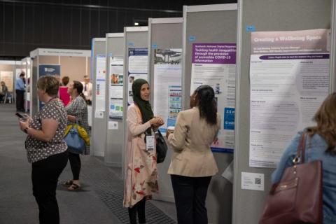
<instances>
[{"instance_id":1,"label":"nearest grey display panel, holding the Creating a Wellbeing Space poster","mask_svg":"<svg viewBox=\"0 0 336 224\"><path fill-rule=\"evenodd\" d=\"M238 1L232 223L258 223L283 150L334 90L331 11L332 1Z\"/></svg>"}]
</instances>

